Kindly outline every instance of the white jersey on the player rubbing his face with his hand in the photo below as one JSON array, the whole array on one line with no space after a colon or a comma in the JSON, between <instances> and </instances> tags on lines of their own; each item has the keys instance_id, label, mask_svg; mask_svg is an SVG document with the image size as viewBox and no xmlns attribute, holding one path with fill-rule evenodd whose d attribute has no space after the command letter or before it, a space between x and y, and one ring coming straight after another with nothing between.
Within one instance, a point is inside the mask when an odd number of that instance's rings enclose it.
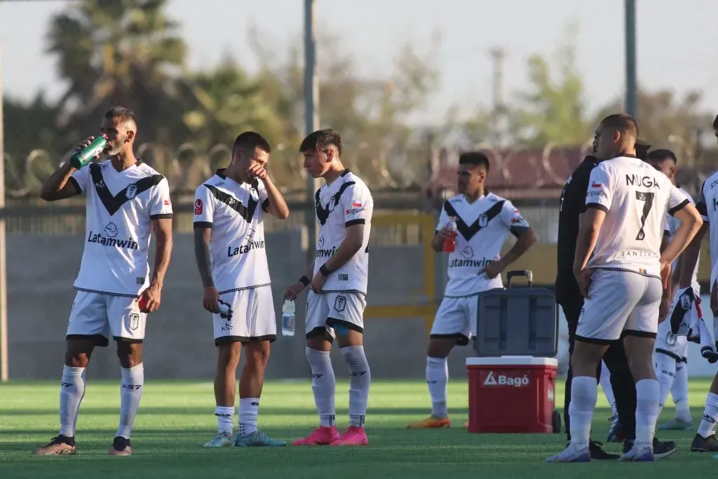
<instances>
[{"instance_id":1,"label":"white jersey on the player rubbing his face with his hand","mask_svg":"<svg viewBox=\"0 0 718 479\"><path fill-rule=\"evenodd\" d=\"M264 184L238 183L224 169L195 192L195 228L212 228L212 278L220 294L269 286L264 243Z\"/></svg>"}]
</instances>

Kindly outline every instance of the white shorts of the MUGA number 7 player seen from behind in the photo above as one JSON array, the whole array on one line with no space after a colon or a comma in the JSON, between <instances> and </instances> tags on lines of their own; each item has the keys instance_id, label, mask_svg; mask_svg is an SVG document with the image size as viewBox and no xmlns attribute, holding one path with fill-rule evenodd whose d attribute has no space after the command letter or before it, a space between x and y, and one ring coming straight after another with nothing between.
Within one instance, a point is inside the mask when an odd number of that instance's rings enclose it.
<instances>
[{"instance_id":1,"label":"white shorts of the MUGA number 7 player seen from behind","mask_svg":"<svg viewBox=\"0 0 718 479\"><path fill-rule=\"evenodd\" d=\"M656 338L661 279L630 271L596 269L579 315L576 339L607 344L623 335Z\"/></svg>"}]
</instances>

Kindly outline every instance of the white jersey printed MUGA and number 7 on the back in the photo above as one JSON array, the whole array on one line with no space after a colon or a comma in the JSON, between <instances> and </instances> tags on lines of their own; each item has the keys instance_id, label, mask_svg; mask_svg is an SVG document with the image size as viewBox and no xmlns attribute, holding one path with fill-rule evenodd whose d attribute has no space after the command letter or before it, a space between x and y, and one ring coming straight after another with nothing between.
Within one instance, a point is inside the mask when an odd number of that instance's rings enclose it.
<instances>
[{"instance_id":1,"label":"white jersey printed MUGA and number 7 on the back","mask_svg":"<svg viewBox=\"0 0 718 479\"><path fill-rule=\"evenodd\" d=\"M666 175L635 157L601 162L591 172L586 207L606 212L588 268L661 277L666 213L689 203Z\"/></svg>"}]
</instances>

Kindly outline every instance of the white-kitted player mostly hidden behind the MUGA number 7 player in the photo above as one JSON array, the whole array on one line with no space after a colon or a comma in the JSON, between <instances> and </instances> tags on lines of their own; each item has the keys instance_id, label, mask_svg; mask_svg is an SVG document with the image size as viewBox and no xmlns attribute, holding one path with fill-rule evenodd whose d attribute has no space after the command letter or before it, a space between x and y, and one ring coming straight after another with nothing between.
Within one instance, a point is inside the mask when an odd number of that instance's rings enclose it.
<instances>
[{"instance_id":1,"label":"white-kitted player mostly hidden behind the MUGA number 7 player","mask_svg":"<svg viewBox=\"0 0 718 479\"><path fill-rule=\"evenodd\" d=\"M658 171L663 172L671 184L676 185L676 172L678 159L676 154L669 149L655 149L648 154L646 161ZM679 190L686 195L693 204L693 198L683 188ZM668 231L671 236L676 234L680 220L678 218L668 217ZM684 255L671 266L673 274L671 275L671 291L678 291L679 276L681 274L681 261ZM696 299L699 300L700 285L698 284L698 264L691 271L691 287L693 287ZM669 298L673 297L673 294ZM675 300L675 299L674 299ZM664 312L663 321L658 325L658 336L656 337L656 351L654 367L658 383L661 385L661 394L658 397L658 415L660 416L668 391L671 391L673 403L676 404L676 417L671 422L663 424L658 429L663 430L686 430L693 429L693 421L691 419L691 409L688 402L688 339L686 336L671 334L671 322L664 320L668 315L668 311Z\"/></svg>"}]
</instances>

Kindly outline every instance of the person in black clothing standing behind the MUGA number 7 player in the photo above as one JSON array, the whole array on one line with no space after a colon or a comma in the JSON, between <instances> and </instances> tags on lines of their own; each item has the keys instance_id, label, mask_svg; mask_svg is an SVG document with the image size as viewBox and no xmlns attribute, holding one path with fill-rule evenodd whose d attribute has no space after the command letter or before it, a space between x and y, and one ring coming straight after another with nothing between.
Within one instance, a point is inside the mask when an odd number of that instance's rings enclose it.
<instances>
[{"instance_id":1,"label":"person in black clothing standing behind the MUGA number 7 player","mask_svg":"<svg viewBox=\"0 0 718 479\"><path fill-rule=\"evenodd\" d=\"M650 145L638 141L636 153L644 158ZM579 218L586 210L586 192L588 190L591 170L601 162L593 156L588 156L572 173L561 191L559 203L559 241L556 265L556 303L561 305L569 325L569 355L574 351L574 340L579 316L583 308L584 298L579 291L574 277L573 264L576 251L576 240L579 233ZM628 368L628 359L623 349L623 341L618 340L610 345L603 361L611 373L611 387L616 400L618 419L623 428L625 438L624 450L629 450L631 442L635 439L635 382ZM600 377L600 367L597 378ZM571 380L573 371L569 361L569 371L566 378L566 393L564 398L564 424L566 434L571 440L569 424L569 402L571 401ZM629 442L630 441L630 442ZM589 442L592 459L617 459L618 455L608 454L601 449L600 443ZM673 442L653 441L653 451L656 458L666 457L676 450Z\"/></svg>"}]
</instances>

